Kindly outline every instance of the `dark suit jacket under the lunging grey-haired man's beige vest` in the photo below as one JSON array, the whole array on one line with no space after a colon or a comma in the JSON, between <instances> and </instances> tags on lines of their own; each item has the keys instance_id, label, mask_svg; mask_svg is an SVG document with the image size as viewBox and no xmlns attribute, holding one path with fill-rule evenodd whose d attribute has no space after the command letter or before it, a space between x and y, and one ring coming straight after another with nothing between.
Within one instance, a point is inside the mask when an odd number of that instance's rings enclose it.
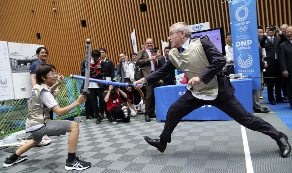
<instances>
[{"instance_id":1,"label":"dark suit jacket under the lunging grey-haired man's beige vest","mask_svg":"<svg viewBox=\"0 0 292 173\"><path fill-rule=\"evenodd\" d=\"M209 39L207 39L207 37L202 37L201 43L210 65L207 66L202 71L199 77L204 83L207 84L215 75L217 75L219 90L218 90L217 98L213 101L217 102L217 101L226 100L229 97L233 96L234 91L235 91L230 81L226 77L221 77L221 70L226 64L226 60L224 56L222 56L222 54L219 52L219 50L214 46L214 44L210 42ZM147 80L148 84L151 84L155 82L157 79L161 78L165 74L175 69L176 67L173 66L172 63L169 61L169 62L166 62L160 69L149 74L148 76L145 76L145 79ZM195 98L189 90L187 90L187 92L184 95L186 99L188 100Z\"/></svg>"}]
</instances>

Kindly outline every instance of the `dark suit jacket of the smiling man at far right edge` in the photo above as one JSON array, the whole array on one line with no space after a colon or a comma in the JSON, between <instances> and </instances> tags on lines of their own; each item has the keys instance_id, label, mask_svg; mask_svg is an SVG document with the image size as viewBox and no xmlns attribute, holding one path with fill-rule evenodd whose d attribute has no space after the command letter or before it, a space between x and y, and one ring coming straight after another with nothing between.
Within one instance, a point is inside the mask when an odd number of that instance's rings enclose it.
<instances>
[{"instance_id":1,"label":"dark suit jacket of the smiling man at far right edge","mask_svg":"<svg viewBox=\"0 0 292 173\"><path fill-rule=\"evenodd\" d=\"M287 39L279 46L279 63L281 71L288 71L288 77L292 76L292 43Z\"/></svg>"}]
</instances>

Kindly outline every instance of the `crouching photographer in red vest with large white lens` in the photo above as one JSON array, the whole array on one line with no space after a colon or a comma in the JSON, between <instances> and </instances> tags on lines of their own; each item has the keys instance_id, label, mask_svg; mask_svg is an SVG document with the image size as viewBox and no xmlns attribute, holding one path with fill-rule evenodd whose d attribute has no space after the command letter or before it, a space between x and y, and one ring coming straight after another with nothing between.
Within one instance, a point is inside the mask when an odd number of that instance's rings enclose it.
<instances>
[{"instance_id":1,"label":"crouching photographer in red vest with large white lens","mask_svg":"<svg viewBox=\"0 0 292 173\"><path fill-rule=\"evenodd\" d=\"M126 93L117 86L106 85L103 97L106 102L107 110L113 117L113 124L116 124L118 119L122 119L124 122L130 121L131 111L127 103L124 103L121 98L127 98Z\"/></svg>"}]
</instances>

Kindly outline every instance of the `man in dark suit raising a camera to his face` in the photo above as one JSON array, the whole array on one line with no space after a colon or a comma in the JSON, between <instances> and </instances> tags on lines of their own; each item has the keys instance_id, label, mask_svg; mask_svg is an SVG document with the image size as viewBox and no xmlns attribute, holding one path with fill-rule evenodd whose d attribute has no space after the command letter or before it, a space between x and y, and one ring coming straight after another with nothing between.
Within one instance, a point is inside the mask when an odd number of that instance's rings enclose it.
<instances>
[{"instance_id":1,"label":"man in dark suit raising a camera to his face","mask_svg":"<svg viewBox=\"0 0 292 173\"><path fill-rule=\"evenodd\" d=\"M282 92L281 92L281 79L278 77L282 77L279 61L278 61L278 47L279 45L286 40L285 34L282 34L279 27L275 26L276 30L270 31L269 28L274 28L274 25L269 25L266 28L266 33L260 40L260 45L262 48L266 49L266 58L264 60L268 63L268 67L266 68L265 76L270 77L266 78L267 82L267 92L268 92L268 100L270 104L275 105L276 102L288 103L289 101L283 100ZM279 37L275 36L275 33L278 32ZM276 90L276 102L273 95L273 88L275 84Z\"/></svg>"}]
</instances>

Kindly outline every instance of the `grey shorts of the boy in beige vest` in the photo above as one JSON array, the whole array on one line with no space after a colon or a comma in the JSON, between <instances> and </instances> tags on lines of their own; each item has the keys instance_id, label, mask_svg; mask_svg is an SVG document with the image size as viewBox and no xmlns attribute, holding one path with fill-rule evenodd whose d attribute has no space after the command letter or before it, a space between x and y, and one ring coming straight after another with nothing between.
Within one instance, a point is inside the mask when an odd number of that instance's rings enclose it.
<instances>
[{"instance_id":1,"label":"grey shorts of the boy in beige vest","mask_svg":"<svg viewBox=\"0 0 292 173\"><path fill-rule=\"evenodd\" d=\"M65 135L71 126L72 121L69 120L49 120L42 128L29 133L33 136L33 141L41 141L44 135L57 136L60 134Z\"/></svg>"}]
</instances>

